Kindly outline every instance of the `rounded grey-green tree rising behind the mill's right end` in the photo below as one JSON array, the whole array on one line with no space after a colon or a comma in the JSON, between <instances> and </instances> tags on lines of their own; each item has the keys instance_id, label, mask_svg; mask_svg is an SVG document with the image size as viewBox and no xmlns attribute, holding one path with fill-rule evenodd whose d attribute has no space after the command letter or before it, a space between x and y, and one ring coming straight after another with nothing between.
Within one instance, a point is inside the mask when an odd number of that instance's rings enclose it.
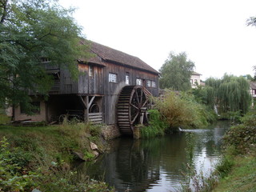
<instances>
[{"instance_id":1,"label":"rounded grey-green tree rising behind the mill's right end","mask_svg":"<svg viewBox=\"0 0 256 192\"><path fill-rule=\"evenodd\" d=\"M190 77L194 70L194 62L187 59L186 53L170 53L160 69L161 88L173 90L190 90Z\"/></svg>"}]
</instances>

